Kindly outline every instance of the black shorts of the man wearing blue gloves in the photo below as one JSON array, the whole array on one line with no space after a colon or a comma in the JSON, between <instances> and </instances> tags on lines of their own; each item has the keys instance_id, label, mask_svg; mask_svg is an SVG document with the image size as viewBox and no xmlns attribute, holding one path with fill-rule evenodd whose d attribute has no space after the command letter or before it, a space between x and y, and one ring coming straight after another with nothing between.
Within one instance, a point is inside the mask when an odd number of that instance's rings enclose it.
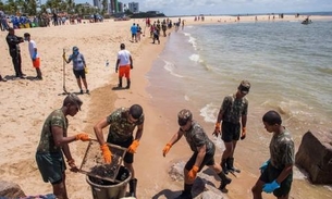
<instances>
[{"instance_id":1,"label":"black shorts of the man wearing blue gloves","mask_svg":"<svg viewBox=\"0 0 332 199\"><path fill-rule=\"evenodd\" d=\"M282 170L273 167L271 163L268 164L267 169L262 172L259 179L265 183L272 183L281 174ZM293 182L293 173L291 173L281 184L280 188L273 191L275 197L283 197L290 194Z\"/></svg>"}]
</instances>

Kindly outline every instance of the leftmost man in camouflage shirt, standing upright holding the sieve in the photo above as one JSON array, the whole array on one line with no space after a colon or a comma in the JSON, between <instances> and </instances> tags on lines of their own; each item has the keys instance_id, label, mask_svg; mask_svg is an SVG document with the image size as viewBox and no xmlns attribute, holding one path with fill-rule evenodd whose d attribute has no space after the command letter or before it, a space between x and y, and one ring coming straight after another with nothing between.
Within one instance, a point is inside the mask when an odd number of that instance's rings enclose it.
<instances>
[{"instance_id":1,"label":"leftmost man in camouflage shirt, standing upright holding the sieve","mask_svg":"<svg viewBox=\"0 0 332 199\"><path fill-rule=\"evenodd\" d=\"M78 172L72 158L69 144L75 140L88 141L90 138L85 133L74 136L67 135L67 115L74 116L81 110L83 102L70 94L63 100L62 108L52 111L46 119L39 145L36 152L36 162L45 183L51 183L53 195L58 199L69 199L65 186L65 161L72 172Z\"/></svg>"}]
</instances>

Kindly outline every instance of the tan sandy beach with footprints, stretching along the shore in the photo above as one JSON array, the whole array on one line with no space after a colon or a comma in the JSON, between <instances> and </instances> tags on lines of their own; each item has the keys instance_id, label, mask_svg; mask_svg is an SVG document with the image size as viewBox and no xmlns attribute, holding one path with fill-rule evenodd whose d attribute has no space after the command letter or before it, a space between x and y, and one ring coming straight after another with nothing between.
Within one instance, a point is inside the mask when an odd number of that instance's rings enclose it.
<instances>
[{"instance_id":1,"label":"tan sandy beach with footprints, stretching along the shore","mask_svg":"<svg viewBox=\"0 0 332 199\"><path fill-rule=\"evenodd\" d=\"M284 16L275 21L299 21L305 16ZM331 16L310 16L313 20L331 18ZM153 21L155 18L152 18ZM235 23L235 16L206 16L205 22L194 22L194 16L183 17L185 25L208 23ZM157 21L157 18L156 18ZM172 18L173 22L177 17ZM268 21L268 15L258 16L258 21ZM255 16L241 16L241 22L255 22ZM171 149L167 158L161 150L177 129L176 119L167 120L164 113L158 112L150 103L151 96L146 91L149 85L146 74L152 66L153 60L163 50L168 38L161 37L160 45L152 45L148 28L143 28L140 42L131 42L130 27L138 23L145 27L143 20L103 23L83 23L77 25L51 26L44 28L16 29L15 35L29 33L36 41L41 58L42 80L32 80L36 76L35 69L28 57L27 42L21 43L22 71L27 79L15 79L14 69L5 42L7 32L1 32L0 74L8 79L0 82L0 136L1 159L0 178L16 183L27 196L52 192L51 185L42 182L36 161L35 151L39 141L42 123L47 115L62 105L64 99L63 77L66 90L78 92L72 72L72 64L65 64L63 75L62 52L69 55L72 47L77 46L84 54L88 66L87 83L90 95L79 95L83 100L82 111L74 117L69 116L69 134L88 133L96 138L93 126L115 108L130 107L138 103L146 115L144 135L135 154L135 171L138 179L137 195L140 199L168 198L172 192L180 192L183 182L172 182L168 170L172 163L184 160L192 154L184 139ZM170 35L172 37L172 34ZM134 69L132 71L132 87L124 90L112 90L118 84L114 73L116 52L120 43L124 42L132 52ZM110 65L106 66L107 60ZM161 77L162 78L162 77ZM182 108L179 108L179 110ZM104 136L107 130L103 132ZM75 141L70 144L71 152L77 165L81 165L87 144ZM181 152L180 152L181 151ZM218 154L216 158L220 160ZM242 165L237 165L242 167ZM251 198L250 188L257 179L257 174L243 171L229 186L228 197L231 199ZM66 186L71 199L93 198L85 175L66 171ZM212 182L218 185L218 182ZM304 198L306 190L296 188L304 182L295 183L293 198ZM319 191L319 187L317 188ZM171 192L171 194L170 194ZM164 195L168 194L168 195ZM265 195L266 198L273 198ZM291 198L292 198L291 197Z\"/></svg>"}]
</instances>

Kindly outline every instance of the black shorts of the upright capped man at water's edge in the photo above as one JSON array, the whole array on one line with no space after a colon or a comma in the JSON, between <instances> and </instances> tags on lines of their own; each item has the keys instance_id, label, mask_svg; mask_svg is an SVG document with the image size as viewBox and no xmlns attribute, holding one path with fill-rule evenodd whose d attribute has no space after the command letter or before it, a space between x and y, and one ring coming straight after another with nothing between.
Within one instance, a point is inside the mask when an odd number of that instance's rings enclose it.
<instances>
[{"instance_id":1,"label":"black shorts of the upright capped man at water's edge","mask_svg":"<svg viewBox=\"0 0 332 199\"><path fill-rule=\"evenodd\" d=\"M241 125L239 123L233 124L231 122L225 122L222 121L222 136L221 139L224 142L231 142L233 140L238 140L239 139L239 130L241 130Z\"/></svg>"}]
</instances>

